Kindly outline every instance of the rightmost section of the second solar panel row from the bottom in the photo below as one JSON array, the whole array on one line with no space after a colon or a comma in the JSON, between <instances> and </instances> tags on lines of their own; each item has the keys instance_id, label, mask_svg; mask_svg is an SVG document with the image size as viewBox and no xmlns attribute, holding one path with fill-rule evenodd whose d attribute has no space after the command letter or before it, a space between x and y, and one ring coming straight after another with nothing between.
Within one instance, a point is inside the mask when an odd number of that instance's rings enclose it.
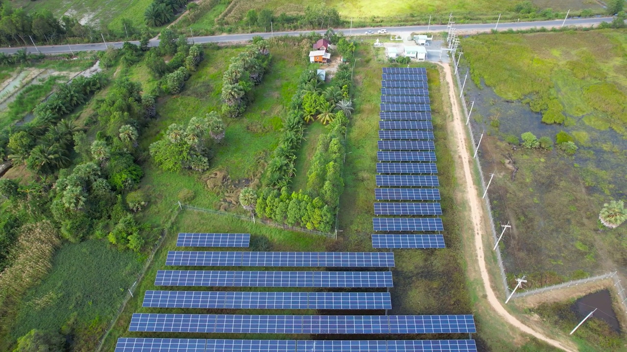
<instances>
[{"instance_id":1,"label":"rightmost section of the second solar panel row from the bottom","mask_svg":"<svg viewBox=\"0 0 627 352\"><path fill-rule=\"evenodd\" d=\"M472 315L391 315L391 334L475 333Z\"/></svg>"}]
</instances>

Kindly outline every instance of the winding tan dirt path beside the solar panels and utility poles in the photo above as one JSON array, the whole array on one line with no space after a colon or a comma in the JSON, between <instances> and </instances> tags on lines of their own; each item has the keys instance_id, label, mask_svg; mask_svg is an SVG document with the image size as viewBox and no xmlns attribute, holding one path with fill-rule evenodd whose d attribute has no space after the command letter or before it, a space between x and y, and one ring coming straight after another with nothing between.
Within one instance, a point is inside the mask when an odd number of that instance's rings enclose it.
<instances>
[{"instance_id":1,"label":"winding tan dirt path beside the solar panels and utility poles","mask_svg":"<svg viewBox=\"0 0 627 352\"><path fill-rule=\"evenodd\" d=\"M488 269L485 263L485 257L483 255L483 239L482 239L482 218L483 218L483 206L481 204L480 199L478 198L478 190L475 186L475 182L473 182L473 174L471 171L471 162L470 153L468 152L468 141L466 140L466 132L464 130L464 122L461 118L460 114L460 105L458 103L458 99L455 96L455 90L453 89L453 75L451 74L451 68L449 65L439 64L443 67L446 81L449 86L449 98L451 100L451 107L453 110L453 130L455 131L455 140L458 145L461 158L461 163L463 164L463 174L466 180L466 195L468 196L468 204L470 205L470 212L472 214L472 228L475 232L475 255L477 256L477 261L479 264L479 271L481 273L481 279L483 282L483 287L486 292L486 296L488 299L488 303L492 307L494 311L498 313L508 324L514 326L520 331L530 334L537 339L544 341L545 343L551 344L559 349L563 349L564 351L574 351L574 349L564 346L561 342L549 338L542 333L535 331L529 326L521 323L517 318L512 316L505 308L501 305L500 301L494 291L492 290L492 286L490 285L490 276L488 275Z\"/></svg>"}]
</instances>

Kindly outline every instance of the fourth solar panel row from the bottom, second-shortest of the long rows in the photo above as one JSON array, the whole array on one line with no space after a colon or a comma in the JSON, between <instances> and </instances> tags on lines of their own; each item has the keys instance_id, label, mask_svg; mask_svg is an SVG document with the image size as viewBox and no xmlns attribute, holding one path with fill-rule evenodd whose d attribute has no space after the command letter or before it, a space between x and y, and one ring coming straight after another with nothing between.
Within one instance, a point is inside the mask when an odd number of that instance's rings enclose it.
<instances>
[{"instance_id":1,"label":"fourth solar panel row from the bottom, second-shortest of the long rows","mask_svg":"<svg viewBox=\"0 0 627 352\"><path fill-rule=\"evenodd\" d=\"M155 286L393 287L389 271L187 271L159 270Z\"/></svg>"}]
</instances>

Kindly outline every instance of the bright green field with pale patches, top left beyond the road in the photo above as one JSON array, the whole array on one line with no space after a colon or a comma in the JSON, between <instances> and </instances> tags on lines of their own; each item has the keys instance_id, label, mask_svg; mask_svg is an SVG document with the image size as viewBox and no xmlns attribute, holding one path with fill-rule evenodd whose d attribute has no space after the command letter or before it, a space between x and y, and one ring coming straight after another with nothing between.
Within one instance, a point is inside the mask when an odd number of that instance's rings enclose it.
<instances>
[{"instance_id":1,"label":"bright green field with pale patches, top left beyond the road","mask_svg":"<svg viewBox=\"0 0 627 352\"><path fill-rule=\"evenodd\" d=\"M136 26L144 24L144 11L150 3L152 0L14 0L11 6L23 7L30 13L46 9L58 18L68 14L79 21L107 24L122 32L122 18L130 19Z\"/></svg>"}]
</instances>

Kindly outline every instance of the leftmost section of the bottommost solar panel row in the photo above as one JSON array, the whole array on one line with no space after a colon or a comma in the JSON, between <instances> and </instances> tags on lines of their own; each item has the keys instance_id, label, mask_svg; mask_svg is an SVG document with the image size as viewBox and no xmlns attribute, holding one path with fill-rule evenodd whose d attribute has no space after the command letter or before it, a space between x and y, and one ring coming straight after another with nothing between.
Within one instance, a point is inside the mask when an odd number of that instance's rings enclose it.
<instances>
[{"instance_id":1,"label":"leftmost section of the bottommost solar panel row","mask_svg":"<svg viewBox=\"0 0 627 352\"><path fill-rule=\"evenodd\" d=\"M205 352L206 339L119 338L115 352Z\"/></svg>"}]
</instances>

